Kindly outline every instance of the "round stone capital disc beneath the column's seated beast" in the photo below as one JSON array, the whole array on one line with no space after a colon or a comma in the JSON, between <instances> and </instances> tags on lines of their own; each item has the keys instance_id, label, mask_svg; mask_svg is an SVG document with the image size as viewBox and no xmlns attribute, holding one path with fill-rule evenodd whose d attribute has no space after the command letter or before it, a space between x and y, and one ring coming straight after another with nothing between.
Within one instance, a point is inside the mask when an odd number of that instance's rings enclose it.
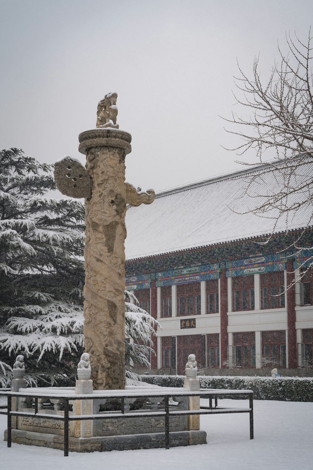
<instances>
[{"instance_id":1,"label":"round stone capital disc beneath the column's seated beast","mask_svg":"<svg viewBox=\"0 0 313 470\"><path fill-rule=\"evenodd\" d=\"M90 131L84 131L79 134L78 150L84 155L88 149L93 147L114 147L123 149L125 155L131 152L131 135L120 129L111 129L110 127L98 127Z\"/></svg>"}]
</instances>

